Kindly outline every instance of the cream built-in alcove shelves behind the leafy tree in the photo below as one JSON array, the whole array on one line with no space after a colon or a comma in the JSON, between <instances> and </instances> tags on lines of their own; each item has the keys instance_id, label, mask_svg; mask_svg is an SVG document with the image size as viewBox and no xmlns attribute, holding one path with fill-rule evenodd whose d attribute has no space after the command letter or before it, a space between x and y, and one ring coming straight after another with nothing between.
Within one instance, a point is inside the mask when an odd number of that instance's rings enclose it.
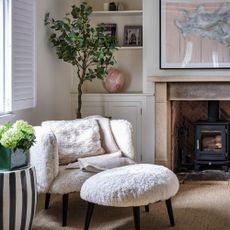
<instances>
[{"instance_id":1,"label":"cream built-in alcove shelves behind the leafy tree","mask_svg":"<svg viewBox=\"0 0 230 230\"><path fill-rule=\"evenodd\" d=\"M98 25L100 23L116 24L116 37L118 41L118 50L115 52L117 63L115 68L121 70L125 76L125 87L123 94L130 92L143 92L143 34L142 45L132 46L125 44L126 39L125 26L143 26L143 1L125 0L115 1L121 3L123 10L104 11L103 6L106 0L87 0L92 6L91 23ZM142 28L143 31L143 28ZM143 33L143 32L142 32ZM84 93L106 93L100 80L85 82Z\"/></svg>"}]
</instances>

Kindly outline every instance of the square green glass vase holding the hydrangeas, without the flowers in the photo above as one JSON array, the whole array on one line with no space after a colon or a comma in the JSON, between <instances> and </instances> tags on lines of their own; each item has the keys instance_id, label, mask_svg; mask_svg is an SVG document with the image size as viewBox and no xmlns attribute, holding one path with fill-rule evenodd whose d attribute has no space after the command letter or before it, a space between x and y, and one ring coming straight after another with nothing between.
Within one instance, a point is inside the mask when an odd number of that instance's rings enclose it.
<instances>
[{"instance_id":1,"label":"square green glass vase holding the hydrangeas, without the flowers","mask_svg":"<svg viewBox=\"0 0 230 230\"><path fill-rule=\"evenodd\" d=\"M29 164L29 150L0 146L0 170L14 170Z\"/></svg>"}]
</instances>

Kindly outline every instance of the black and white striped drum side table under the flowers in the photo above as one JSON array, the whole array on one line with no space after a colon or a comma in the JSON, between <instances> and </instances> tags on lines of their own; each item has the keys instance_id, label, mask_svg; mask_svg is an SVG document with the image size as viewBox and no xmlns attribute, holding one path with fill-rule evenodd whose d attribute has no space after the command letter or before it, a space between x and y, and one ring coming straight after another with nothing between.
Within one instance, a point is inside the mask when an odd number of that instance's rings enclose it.
<instances>
[{"instance_id":1,"label":"black and white striped drum side table under the flowers","mask_svg":"<svg viewBox=\"0 0 230 230\"><path fill-rule=\"evenodd\" d=\"M34 167L0 171L0 229L31 229L37 205Z\"/></svg>"}]
</instances>

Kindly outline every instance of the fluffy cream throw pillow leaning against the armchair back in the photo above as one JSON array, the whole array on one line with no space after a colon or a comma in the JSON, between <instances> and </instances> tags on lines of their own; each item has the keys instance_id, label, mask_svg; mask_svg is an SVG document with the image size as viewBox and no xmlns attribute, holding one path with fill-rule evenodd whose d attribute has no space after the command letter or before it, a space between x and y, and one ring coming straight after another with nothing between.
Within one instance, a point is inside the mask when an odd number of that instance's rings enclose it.
<instances>
[{"instance_id":1,"label":"fluffy cream throw pillow leaning against the armchair back","mask_svg":"<svg viewBox=\"0 0 230 230\"><path fill-rule=\"evenodd\" d=\"M94 119L45 121L42 126L50 128L57 138L60 164L105 152L101 147L100 129Z\"/></svg>"}]
</instances>

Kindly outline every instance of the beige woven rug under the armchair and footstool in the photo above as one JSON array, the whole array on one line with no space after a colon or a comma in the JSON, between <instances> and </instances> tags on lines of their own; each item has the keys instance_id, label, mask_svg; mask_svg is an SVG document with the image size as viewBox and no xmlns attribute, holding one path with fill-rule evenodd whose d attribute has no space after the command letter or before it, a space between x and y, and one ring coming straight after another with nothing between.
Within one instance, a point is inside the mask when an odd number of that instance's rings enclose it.
<instances>
[{"instance_id":1,"label":"beige woven rug under the armchair and footstool","mask_svg":"<svg viewBox=\"0 0 230 230\"><path fill-rule=\"evenodd\" d=\"M63 228L61 196L51 197L48 210L44 210L44 196L39 196L33 230L83 229L86 203L79 194L71 194L68 226ZM150 212L141 211L144 230L230 230L230 185L181 184L173 198L176 226L171 227L164 202L150 205ZM92 230L134 229L132 208L96 206L91 220Z\"/></svg>"}]
</instances>

